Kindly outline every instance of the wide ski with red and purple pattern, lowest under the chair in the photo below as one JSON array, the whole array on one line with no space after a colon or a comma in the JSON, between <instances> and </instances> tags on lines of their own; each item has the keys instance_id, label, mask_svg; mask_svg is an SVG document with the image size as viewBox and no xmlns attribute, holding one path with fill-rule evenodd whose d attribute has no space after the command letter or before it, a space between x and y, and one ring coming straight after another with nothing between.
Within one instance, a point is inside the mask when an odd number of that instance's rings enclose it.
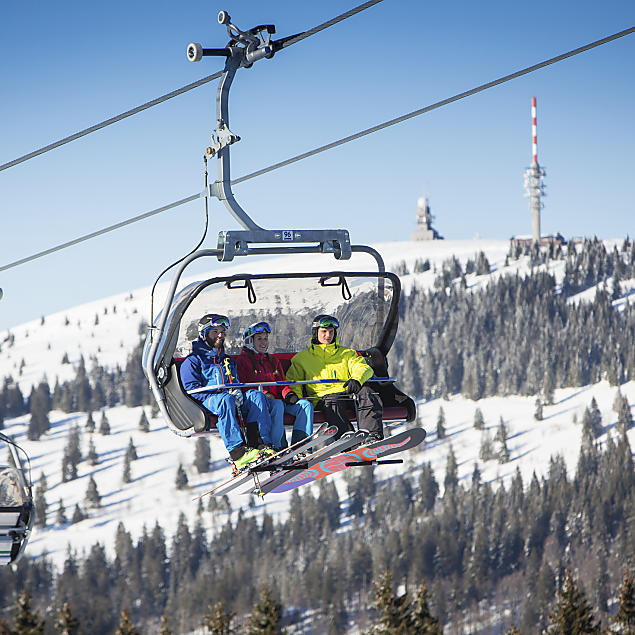
<instances>
[{"instance_id":1,"label":"wide ski with red and purple pattern, lowest under the chair","mask_svg":"<svg viewBox=\"0 0 635 635\"><path fill-rule=\"evenodd\" d=\"M269 491L274 494L281 494L282 492L288 492L296 487L312 483L329 474L340 472L349 467L381 465L384 462L378 459L414 448L422 443L425 438L426 431L423 428L411 428L394 437L375 441L370 445L345 451L336 456L330 456L328 458L319 457L315 462L309 461L309 467L307 469L290 475L287 479L281 480L277 486ZM388 463L388 461L386 461L386 463Z\"/></svg>"}]
</instances>

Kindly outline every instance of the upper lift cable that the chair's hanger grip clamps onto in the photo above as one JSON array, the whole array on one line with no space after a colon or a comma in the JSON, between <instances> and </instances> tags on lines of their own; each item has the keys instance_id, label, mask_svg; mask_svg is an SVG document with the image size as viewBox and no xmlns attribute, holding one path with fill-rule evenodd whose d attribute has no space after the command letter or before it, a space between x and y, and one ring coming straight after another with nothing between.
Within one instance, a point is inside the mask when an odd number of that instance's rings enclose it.
<instances>
[{"instance_id":1,"label":"upper lift cable that the chair's hanger grip clamps onto","mask_svg":"<svg viewBox=\"0 0 635 635\"><path fill-rule=\"evenodd\" d=\"M356 13L360 13L361 11L368 9L369 7L375 4L378 4L379 2L383 2L383 0L369 0L368 2L364 2L364 4L360 4L358 7L355 7L354 9L350 9L349 11L346 11L345 13L342 13L341 15L338 15L335 18L332 18L331 20L328 20L327 22L324 22L316 27L313 27L312 29L309 29L308 31L303 31L302 33L299 33L298 35L293 35L288 38L282 38L281 40L278 40L277 43L274 43L274 44L277 44L275 48L276 50L288 48L292 44L301 42L302 40L310 37L311 35L315 35L316 33L323 31L324 29L328 29L330 26L333 26L334 24L337 24L338 22L341 22L342 20L346 20L347 18L350 18ZM218 73L214 73L213 75L202 77L201 79L195 82L192 82L191 84L187 84L186 86L177 88L176 90L173 90L172 92L166 93L165 95L162 95L161 97L157 97L156 99L152 99L151 101L148 101L145 104L141 104L140 106L137 106L136 108L131 108L130 110L127 110L126 112L123 112L120 115L116 115L115 117L106 119L105 121L102 121L101 123L97 123L94 126L90 126L89 128L80 130L79 132L69 135L68 137L64 137L63 139L59 139L58 141L50 143L49 145L39 148L38 150L29 152L28 154L18 157L17 159L13 159L13 161L8 161L7 163L3 163L0 165L0 172L2 172L2 170L12 168L13 166L18 165L20 163L24 163L24 161L33 159L41 154L44 154L45 152L49 152L50 150L59 148L60 146L70 143L71 141L75 141L75 139L80 139L81 137L85 137L86 135L91 134L92 132L101 130L102 128L105 128L106 126L110 126L113 123L117 123L118 121L121 121L122 119L126 119L127 117L131 117L132 115L136 115L140 112L143 112L144 110L147 110L148 108L152 108L152 106L156 106L158 104L163 103L164 101L167 101L168 99L172 99L172 97L177 97L178 95L182 95L183 93L186 93L194 88L203 86L204 84L207 84L215 79L218 79L222 74L223 74L223 71L219 71Z\"/></svg>"}]
</instances>

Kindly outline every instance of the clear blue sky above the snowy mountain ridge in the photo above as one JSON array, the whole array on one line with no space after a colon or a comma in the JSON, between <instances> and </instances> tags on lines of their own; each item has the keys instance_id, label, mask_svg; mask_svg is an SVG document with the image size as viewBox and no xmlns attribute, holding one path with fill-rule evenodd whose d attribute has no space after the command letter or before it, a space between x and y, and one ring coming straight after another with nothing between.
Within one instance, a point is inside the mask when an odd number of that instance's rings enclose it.
<instances>
[{"instance_id":1,"label":"clear blue sky above the snowy mountain ridge","mask_svg":"<svg viewBox=\"0 0 635 635\"><path fill-rule=\"evenodd\" d=\"M0 163L219 70L220 9L276 37L361 0L10 3L0 27ZM444 99L635 24L635 3L385 0L239 72L232 175ZM268 228L407 239L429 196L447 238L531 231L523 173L538 99L543 231L635 233L635 35L235 187ZM216 82L0 172L0 264L202 189ZM212 170L215 166L211 166ZM212 176L214 172L212 171ZM217 201L207 247L236 228ZM196 244L198 201L0 274L0 329L151 284Z\"/></svg>"}]
</instances>

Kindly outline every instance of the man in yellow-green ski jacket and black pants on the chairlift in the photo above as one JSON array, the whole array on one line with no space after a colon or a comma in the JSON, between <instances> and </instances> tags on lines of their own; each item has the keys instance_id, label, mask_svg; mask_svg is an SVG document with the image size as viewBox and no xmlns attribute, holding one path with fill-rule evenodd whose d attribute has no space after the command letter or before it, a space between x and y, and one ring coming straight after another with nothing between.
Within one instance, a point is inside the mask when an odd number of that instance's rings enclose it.
<instances>
[{"instance_id":1,"label":"man in yellow-green ski jacket and black pants on the chairlift","mask_svg":"<svg viewBox=\"0 0 635 635\"><path fill-rule=\"evenodd\" d=\"M329 424L337 426L336 438L353 429L348 412L354 409L355 398L360 429L368 430L371 441L383 439L383 405L379 395L365 385L373 376L373 369L356 351L340 346L338 327L339 322L332 315L316 316L311 324L311 344L293 356L286 378L292 381L346 380L343 391L340 390L341 383L307 384L291 388L299 398L314 398L316 409L324 412Z\"/></svg>"}]
</instances>

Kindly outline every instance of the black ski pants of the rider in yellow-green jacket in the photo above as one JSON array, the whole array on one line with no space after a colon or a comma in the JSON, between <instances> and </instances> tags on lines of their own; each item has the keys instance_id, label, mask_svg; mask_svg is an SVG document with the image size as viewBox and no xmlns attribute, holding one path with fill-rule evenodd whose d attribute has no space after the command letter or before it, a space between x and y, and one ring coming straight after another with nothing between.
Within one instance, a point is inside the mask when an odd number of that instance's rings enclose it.
<instances>
[{"instance_id":1,"label":"black ski pants of the rider in yellow-green jacket","mask_svg":"<svg viewBox=\"0 0 635 635\"><path fill-rule=\"evenodd\" d=\"M318 407L324 412L324 418L329 425L337 426L336 439L345 432L353 430L349 421L349 413L355 412L353 396L347 392L333 392L324 395L318 401ZM368 386L362 386L357 393L357 421L362 430L370 434L377 434L383 438L384 426L381 420L384 406L379 395Z\"/></svg>"}]
</instances>

